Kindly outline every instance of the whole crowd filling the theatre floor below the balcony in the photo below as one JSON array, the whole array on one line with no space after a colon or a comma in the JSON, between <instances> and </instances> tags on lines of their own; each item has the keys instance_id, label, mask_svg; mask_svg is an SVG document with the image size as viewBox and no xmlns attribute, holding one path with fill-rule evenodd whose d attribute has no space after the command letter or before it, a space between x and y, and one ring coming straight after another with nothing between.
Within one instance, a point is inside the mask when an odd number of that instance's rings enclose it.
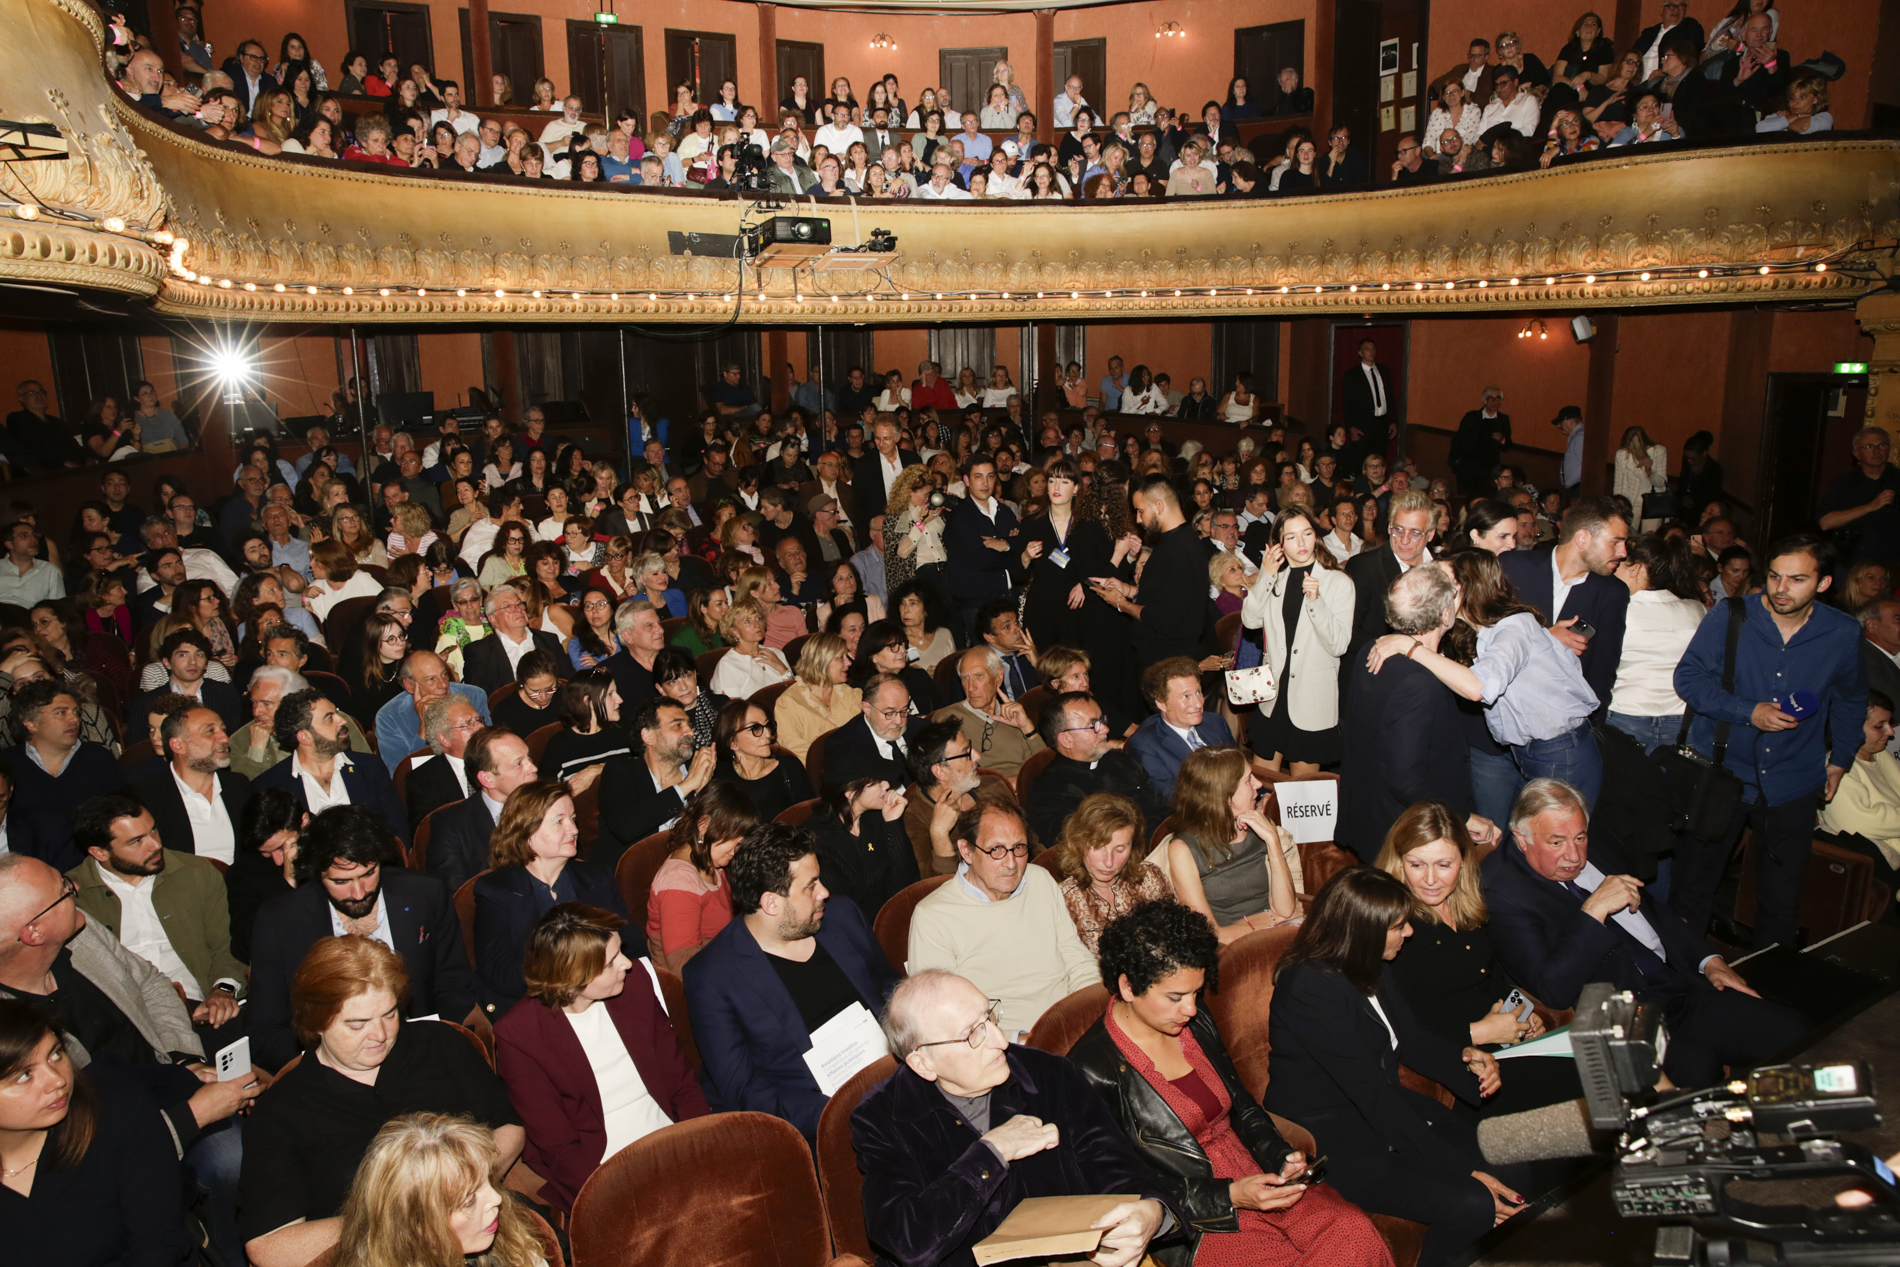
<instances>
[{"instance_id":1,"label":"whole crowd filling the theatre floor below the balcony","mask_svg":"<svg viewBox=\"0 0 1900 1267\"><path fill-rule=\"evenodd\" d=\"M538 408L350 456L317 429L296 463L247 446L228 486L160 481L152 515L106 467L65 570L13 507L0 568L87 598L0 627L0 1066L89 1066L125 1163L68 1144L48 1094L0 1123L0 1202L44 1237L99 1208L78 1261L192 1221L226 1261L370 1261L403 1138L521 1161L559 1223L684 1119L813 1138L836 1083L806 1056L882 1024L901 1068L853 1119L880 1252L940 1261L1015 1199L1113 1183L1140 1195L1106 1225L1121 1261L1378 1263L1370 1212L1425 1223L1434 1263L1548 1178L1486 1164L1474 1123L1577 1096L1564 1060L1499 1068L1539 1031L1512 988L1644 993L1680 1087L1801 1037L1716 904L1748 830L1752 936L1799 938L1824 802L1892 874L1885 431L1824 498L1858 524L1837 564L1814 534L1742 541L1706 435L1670 471L1632 427L1619 496L1581 496L1581 408L1533 488L1497 389L1427 473L1358 414L1214 454L1161 418L1254 420L1246 374L1174 405L1108 370L1070 367L1075 408L1043 416L931 363L800 384L809 412L779 416L733 370L697 420L635 401L625 465ZM1233 665L1273 697L1231 705ZM1615 775L1691 709L1744 785L1725 840L1659 830ZM1269 796L1334 773L1364 866L1320 883ZM1195 1014L1256 936L1290 938L1264 1098ZM1072 1060L1022 1047L1096 984ZM239 1037L256 1077L207 1079ZM1264 1109L1322 1134L1324 1189ZM13 1174L32 1149L44 1180ZM120 1201L129 1166L162 1182ZM944 1168L986 1172L980 1201L923 1195Z\"/></svg>"}]
</instances>

